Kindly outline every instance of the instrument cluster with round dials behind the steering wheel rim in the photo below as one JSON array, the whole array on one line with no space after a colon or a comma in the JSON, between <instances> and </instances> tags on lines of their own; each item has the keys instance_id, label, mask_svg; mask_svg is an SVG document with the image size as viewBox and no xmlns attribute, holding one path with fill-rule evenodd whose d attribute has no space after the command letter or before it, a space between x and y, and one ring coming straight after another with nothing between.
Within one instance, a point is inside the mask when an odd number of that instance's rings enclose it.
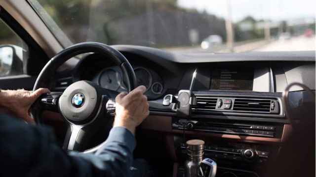
<instances>
[{"instance_id":1,"label":"instrument cluster with round dials behind the steering wheel rim","mask_svg":"<svg viewBox=\"0 0 316 177\"><path fill-rule=\"evenodd\" d=\"M137 84L147 88L145 94L148 99L153 100L160 97L165 91L164 82L160 75L151 67L141 63L131 64L134 68ZM74 70L75 72L71 77L74 81L88 80L105 89L118 92L127 91L119 66L114 66L113 63L97 54L88 55L81 59Z\"/></svg>"}]
</instances>

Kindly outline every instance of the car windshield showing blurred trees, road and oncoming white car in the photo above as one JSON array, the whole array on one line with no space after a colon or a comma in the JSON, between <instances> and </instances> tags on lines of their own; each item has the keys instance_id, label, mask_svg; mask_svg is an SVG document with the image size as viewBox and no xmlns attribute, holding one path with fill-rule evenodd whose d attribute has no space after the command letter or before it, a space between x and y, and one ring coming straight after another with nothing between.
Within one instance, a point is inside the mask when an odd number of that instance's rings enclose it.
<instances>
[{"instance_id":1,"label":"car windshield showing blurred trees, road and oncoming white car","mask_svg":"<svg viewBox=\"0 0 316 177\"><path fill-rule=\"evenodd\" d=\"M29 0L64 47L315 51L315 0Z\"/></svg>"}]
</instances>

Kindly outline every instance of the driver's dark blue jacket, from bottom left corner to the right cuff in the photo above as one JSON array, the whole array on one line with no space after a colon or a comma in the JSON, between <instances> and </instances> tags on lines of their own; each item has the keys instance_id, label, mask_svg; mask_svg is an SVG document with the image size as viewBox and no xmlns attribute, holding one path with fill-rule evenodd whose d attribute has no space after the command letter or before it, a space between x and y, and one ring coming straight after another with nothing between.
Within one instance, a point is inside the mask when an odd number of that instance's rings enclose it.
<instances>
[{"instance_id":1,"label":"driver's dark blue jacket, from bottom left corner to the right cuff","mask_svg":"<svg viewBox=\"0 0 316 177\"><path fill-rule=\"evenodd\" d=\"M96 154L61 149L47 127L0 115L0 176L129 177L135 139L124 127L110 131Z\"/></svg>"}]
</instances>

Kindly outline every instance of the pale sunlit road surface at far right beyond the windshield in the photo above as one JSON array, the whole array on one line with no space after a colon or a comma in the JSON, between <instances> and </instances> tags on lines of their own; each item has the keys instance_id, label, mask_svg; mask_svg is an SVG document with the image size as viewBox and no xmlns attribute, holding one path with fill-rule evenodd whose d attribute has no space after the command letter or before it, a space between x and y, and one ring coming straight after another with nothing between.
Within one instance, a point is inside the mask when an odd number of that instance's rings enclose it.
<instances>
[{"instance_id":1,"label":"pale sunlit road surface at far right beyond the windshield","mask_svg":"<svg viewBox=\"0 0 316 177\"><path fill-rule=\"evenodd\" d=\"M254 51L310 51L316 50L315 36L297 36L290 39L276 40Z\"/></svg>"}]
</instances>

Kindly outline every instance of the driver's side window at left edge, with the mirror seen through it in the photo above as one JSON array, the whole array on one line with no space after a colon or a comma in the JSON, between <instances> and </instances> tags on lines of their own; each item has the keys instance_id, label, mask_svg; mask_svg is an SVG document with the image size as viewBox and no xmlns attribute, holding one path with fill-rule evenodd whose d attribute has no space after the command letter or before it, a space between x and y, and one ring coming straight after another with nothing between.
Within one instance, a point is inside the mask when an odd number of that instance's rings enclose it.
<instances>
[{"instance_id":1,"label":"driver's side window at left edge, with the mirror seen through it","mask_svg":"<svg viewBox=\"0 0 316 177\"><path fill-rule=\"evenodd\" d=\"M27 57L25 42L0 20L0 77L23 74L23 60Z\"/></svg>"}]
</instances>

